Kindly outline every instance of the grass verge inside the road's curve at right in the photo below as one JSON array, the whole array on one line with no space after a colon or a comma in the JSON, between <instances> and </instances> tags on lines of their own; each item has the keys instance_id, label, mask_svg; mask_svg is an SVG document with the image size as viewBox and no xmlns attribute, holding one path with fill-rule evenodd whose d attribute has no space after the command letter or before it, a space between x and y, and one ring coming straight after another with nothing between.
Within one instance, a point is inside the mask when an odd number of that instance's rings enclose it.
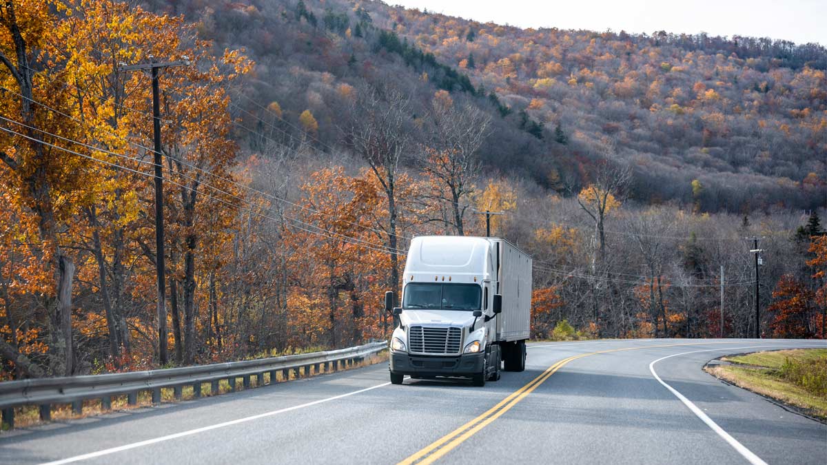
<instances>
[{"instance_id":1,"label":"grass verge inside the road's curve at right","mask_svg":"<svg viewBox=\"0 0 827 465\"><path fill-rule=\"evenodd\" d=\"M753 352L722 357L705 372L827 422L827 349Z\"/></svg>"}]
</instances>

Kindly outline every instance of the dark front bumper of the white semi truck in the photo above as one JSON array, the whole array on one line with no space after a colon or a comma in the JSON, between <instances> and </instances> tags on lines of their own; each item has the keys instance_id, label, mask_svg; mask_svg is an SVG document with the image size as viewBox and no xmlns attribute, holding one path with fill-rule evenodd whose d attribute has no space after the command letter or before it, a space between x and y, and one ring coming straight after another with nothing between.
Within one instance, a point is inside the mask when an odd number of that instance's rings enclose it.
<instances>
[{"instance_id":1,"label":"dark front bumper of the white semi truck","mask_svg":"<svg viewBox=\"0 0 827 465\"><path fill-rule=\"evenodd\" d=\"M390 352L390 371L417 376L471 376L482 371L485 352L453 357Z\"/></svg>"}]
</instances>

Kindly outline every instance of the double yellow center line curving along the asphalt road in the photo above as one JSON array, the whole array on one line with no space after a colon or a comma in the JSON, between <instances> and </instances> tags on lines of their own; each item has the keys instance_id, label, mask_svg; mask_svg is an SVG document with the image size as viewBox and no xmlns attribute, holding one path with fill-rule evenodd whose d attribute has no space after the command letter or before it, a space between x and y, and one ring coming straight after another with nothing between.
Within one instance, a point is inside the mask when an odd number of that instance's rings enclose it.
<instances>
[{"instance_id":1,"label":"double yellow center line curving along the asphalt road","mask_svg":"<svg viewBox=\"0 0 827 465\"><path fill-rule=\"evenodd\" d=\"M734 342L725 342L725 343L734 343ZM724 344L725 344L724 343ZM598 353L607 353L607 352L622 352L627 350L638 350L644 348L665 348L665 347L673 347L673 346L694 346L694 345L701 345L701 344L710 344L710 343L678 343L678 344L662 344L662 345L653 345L653 346L638 346L633 348L617 348L617 349L609 349L609 350L601 350L597 352L588 352L588 353L581 353L580 355L575 355L572 357L564 358L563 360L553 364L551 367L548 367L546 371L541 373L539 376L534 378L533 380L529 381L527 385L519 388L517 391L511 393L508 397L500 402L497 405L494 405L489 410L486 410L485 413L472 419L466 424L463 424L457 429L454 429L451 433L448 433L442 438L437 439L433 443L430 443L428 446L423 448L422 450L414 453L409 458L405 458L402 462L399 462L398 465L411 465L413 463L418 464L427 464L427 463L434 463L439 458L441 458L446 453L451 452L453 448L456 448L460 445L463 441L470 438L476 432L480 431L480 429L485 428L488 424L490 424L495 419L500 418L505 412L511 410L511 407L517 405L520 400L523 400L526 395L531 394L532 391L537 389L538 386L543 384L550 376L552 376L557 370L562 368L566 363L576 360L582 357L589 357L591 355L596 355Z\"/></svg>"}]
</instances>

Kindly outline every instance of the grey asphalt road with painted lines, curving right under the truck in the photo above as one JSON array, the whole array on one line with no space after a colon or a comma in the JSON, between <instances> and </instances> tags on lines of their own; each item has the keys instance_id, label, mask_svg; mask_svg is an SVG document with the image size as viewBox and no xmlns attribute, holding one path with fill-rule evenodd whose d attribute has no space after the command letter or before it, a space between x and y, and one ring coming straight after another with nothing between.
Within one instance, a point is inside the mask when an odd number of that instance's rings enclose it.
<instances>
[{"instance_id":1,"label":"grey asphalt road with painted lines, curving right under the truck","mask_svg":"<svg viewBox=\"0 0 827 465\"><path fill-rule=\"evenodd\" d=\"M0 436L0 463L824 465L827 425L701 371L727 353L794 347L827 344L534 343L525 372L504 372L482 388L410 379L391 386L381 363L14 431Z\"/></svg>"}]
</instances>

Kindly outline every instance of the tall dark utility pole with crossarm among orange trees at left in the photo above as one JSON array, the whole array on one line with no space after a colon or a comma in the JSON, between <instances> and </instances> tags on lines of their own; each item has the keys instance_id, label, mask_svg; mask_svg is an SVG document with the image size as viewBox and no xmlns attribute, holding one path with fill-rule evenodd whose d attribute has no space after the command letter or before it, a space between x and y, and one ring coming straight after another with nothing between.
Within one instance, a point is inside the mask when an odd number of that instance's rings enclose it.
<instances>
[{"instance_id":1,"label":"tall dark utility pole with crossarm among orange trees at left","mask_svg":"<svg viewBox=\"0 0 827 465\"><path fill-rule=\"evenodd\" d=\"M118 71L126 73L136 70L150 70L152 76L152 138L155 146L155 274L158 278L158 299L156 313L158 319L158 361L161 365L169 362L166 350L166 266L164 260L164 176L162 171L161 146L160 146L160 82L159 70L175 66L189 66L189 58L184 60L159 63L150 55L150 62L141 65L120 64Z\"/></svg>"}]
</instances>

